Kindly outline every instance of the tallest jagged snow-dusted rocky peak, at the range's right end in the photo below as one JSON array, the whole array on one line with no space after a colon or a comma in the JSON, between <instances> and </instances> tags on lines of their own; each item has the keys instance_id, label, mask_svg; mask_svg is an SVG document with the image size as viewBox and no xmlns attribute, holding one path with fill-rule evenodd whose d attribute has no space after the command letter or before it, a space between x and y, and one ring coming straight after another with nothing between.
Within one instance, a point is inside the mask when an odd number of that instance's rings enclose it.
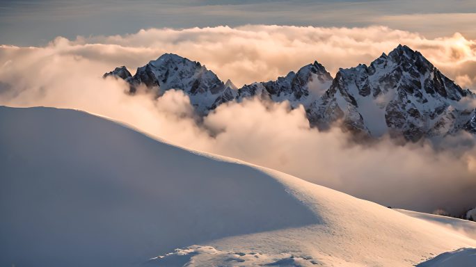
<instances>
[{"instance_id":1,"label":"tallest jagged snow-dusted rocky peak, at the range's right end","mask_svg":"<svg viewBox=\"0 0 476 267\"><path fill-rule=\"evenodd\" d=\"M370 136L390 133L418 140L461 129L470 112L460 100L472 96L420 52L400 44L368 67L360 64L339 70L331 88L308 114L319 125L342 113L348 127Z\"/></svg>"}]
</instances>

